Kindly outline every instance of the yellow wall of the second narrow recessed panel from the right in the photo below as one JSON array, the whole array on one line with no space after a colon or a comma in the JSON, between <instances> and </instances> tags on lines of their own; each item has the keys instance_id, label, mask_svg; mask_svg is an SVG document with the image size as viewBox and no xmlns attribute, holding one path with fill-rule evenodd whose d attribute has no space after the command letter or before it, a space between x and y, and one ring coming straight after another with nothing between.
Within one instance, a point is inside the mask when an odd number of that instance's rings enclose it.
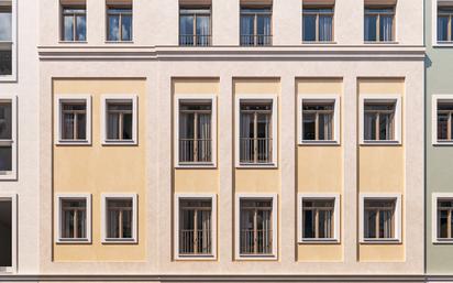
<instances>
[{"instance_id":1,"label":"yellow wall of the second narrow recessed panel from the right","mask_svg":"<svg viewBox=\"0 0 453 283\"><path fill-rule=\"evenodd\" d=\"M340 124L342 124L343 107L343 80L342 78L305 78L296 83L296 95L338 95L340 96ZM296 97L296 111L298 111L299 99ZM296 127L301 127L300 121L296 121ZM341 128L341 126L340 126ZM296 131L297 132L297 131ZM340 130L341 132L341 130ZM340 134L339 145L298 145L297 146L297 193L340 194L342 204L343 193L343 145L342 134ZM300 137L297 137L297 142ZM299 207L297 208L299 209ZM342 215L340 205L340 215ZM342 219L340 217L340 219ZM341 221L341 220L340 220ZM300 219L298 219L300 222ZM341 221L342 222L342 221ZM342 261L343 244L341 240L342 225L340 225L340 243L299 243L297 255L299 261Z\"/></svg>"}]
</instances>

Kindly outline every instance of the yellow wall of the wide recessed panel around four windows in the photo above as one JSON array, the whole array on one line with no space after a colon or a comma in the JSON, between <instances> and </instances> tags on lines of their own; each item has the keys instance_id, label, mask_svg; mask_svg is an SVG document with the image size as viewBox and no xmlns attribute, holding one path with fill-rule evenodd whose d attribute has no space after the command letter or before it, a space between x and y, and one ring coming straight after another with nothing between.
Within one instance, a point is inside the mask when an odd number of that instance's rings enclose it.
<instances>
[{"instance_id":1,"label":"yellow wall of the wide recessed panel around four windows","mask_svg":"<svg viewBox=\"0 0 453 283\"><path fill-rule=\"evenodd\" d=\"M144 79L55 79L55 95L91 95L91 145L53 146L53 192L92 195L92 243L54 243L54 261L143 261L146 257L146 171ZM101 96L133 94L139 97L139 144L101 144ZM55 99L55 98L54 98ZM55 116L54 109L54 119ZM137 194L137 243L101 243L101 194ZM55 209L55 203L54 203ZM54 219L55 224L56 219ZM55 226L56 227L56 226Z\"/></svg>"}]
</instances>

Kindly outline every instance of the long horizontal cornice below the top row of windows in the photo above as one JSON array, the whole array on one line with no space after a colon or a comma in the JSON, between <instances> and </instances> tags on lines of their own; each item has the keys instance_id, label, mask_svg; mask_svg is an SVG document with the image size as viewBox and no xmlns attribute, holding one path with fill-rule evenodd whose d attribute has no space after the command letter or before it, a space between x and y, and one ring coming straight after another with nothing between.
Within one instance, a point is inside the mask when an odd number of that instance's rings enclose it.
<instances>
[{"instance_id":1,"label":"long horizontal cornice below the top row of windows","mask_svg":"<svg viewBox=\"0 0 453 283\"><path fill-rule=\"evenodd\" d=\"M423 61L423 46L40 46L41 61Z\"/></svg>"}]
</instances>

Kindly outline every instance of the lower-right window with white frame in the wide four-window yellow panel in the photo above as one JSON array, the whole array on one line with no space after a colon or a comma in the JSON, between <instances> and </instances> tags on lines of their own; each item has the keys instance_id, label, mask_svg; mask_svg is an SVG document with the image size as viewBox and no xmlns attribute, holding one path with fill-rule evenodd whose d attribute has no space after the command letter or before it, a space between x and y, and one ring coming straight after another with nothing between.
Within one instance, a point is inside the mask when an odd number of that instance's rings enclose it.
<instances>
[{"instance_id":1,"label":"lower-right window with white frame in the wide four-window yellow panel","mask_svg":"<svg viewBox=\"0 0 453 283\"><path fill-rule=\"evenodd\" d=\"M103 195L103 242L136 242L136 195Z\"/></svg>"}]
</instances>

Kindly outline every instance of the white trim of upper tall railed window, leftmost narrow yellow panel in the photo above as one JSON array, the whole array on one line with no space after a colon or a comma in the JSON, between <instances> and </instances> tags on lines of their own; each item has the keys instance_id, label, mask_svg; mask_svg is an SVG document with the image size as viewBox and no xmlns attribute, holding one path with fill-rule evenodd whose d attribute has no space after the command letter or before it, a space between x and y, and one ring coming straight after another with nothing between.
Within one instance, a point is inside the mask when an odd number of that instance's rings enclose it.
<instances>
[{"instance_id":1,"label":"white trim of upper tall railed window, leftmost narrow yellow panel","mask_svg":"<svg viewBox=\"0 0 453 283\"><path fill-rule=\"evenodd\" d=\"M211 100L211 150L212 150L212 162L198 162L192 164L180 164L179 163L179 102L187 100ZM175 167L216 167L217 166L217 97L216 95L175 95L175 112L174 112L174 122L175 122Z\"/></svg>"}]
</instances>

